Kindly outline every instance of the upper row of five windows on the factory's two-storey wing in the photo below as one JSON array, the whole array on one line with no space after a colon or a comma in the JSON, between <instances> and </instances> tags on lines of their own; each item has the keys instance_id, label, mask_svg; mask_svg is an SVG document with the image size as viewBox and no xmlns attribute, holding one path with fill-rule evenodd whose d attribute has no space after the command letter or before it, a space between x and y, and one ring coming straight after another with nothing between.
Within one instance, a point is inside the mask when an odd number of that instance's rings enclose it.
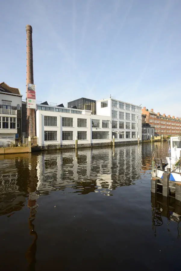
<instances>
[{"instance_id":1,"label":"upper row of five windows on the factory's two-storey wing","mask_svg":"<svg viewBox=\"0 0 181 271\"><path fill-rule=\"evenodd\" d=\"M57 126L57 117L45 116L44 126ZM73 127L73 118L62 117L63 127ZM77 127L87 127L87 119L77 119ZM100 120L92 120L92 127L100 128ZM109 120L102 120L102 128L109 128Z\"/></svg>"}]
</instances>

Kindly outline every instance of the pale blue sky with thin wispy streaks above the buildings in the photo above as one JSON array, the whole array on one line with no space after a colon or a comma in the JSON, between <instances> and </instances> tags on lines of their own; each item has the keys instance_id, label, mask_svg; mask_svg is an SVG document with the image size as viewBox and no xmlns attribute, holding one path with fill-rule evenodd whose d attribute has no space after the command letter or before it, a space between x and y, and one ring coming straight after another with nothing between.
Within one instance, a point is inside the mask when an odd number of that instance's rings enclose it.
<instances>
[{"instance_id":1,"label":"pale blue sky with thin wispy streaks above the buildings","mask_svg":"<svg viewBox=\"0 0 181 271\"><path fill-rule=\"evenodd\" d=\"M26 25L36 100L118 100L181 117L180 0L7 0L0 82L26 98Z\"/></svg>"}]
</instances>

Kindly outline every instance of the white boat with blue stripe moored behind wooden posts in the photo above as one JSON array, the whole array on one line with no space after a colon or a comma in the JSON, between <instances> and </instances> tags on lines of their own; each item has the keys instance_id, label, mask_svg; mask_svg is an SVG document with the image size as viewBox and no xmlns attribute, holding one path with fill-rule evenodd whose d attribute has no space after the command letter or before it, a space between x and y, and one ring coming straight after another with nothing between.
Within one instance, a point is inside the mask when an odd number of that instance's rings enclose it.
<instances>
[{"instance_id":1,"label":"white boat with blue stripe moored behind wooden posts","mask_svg":"<svg viewBox=\"0 0 181 271\"><path fill-rule=\"evenodd\" d=\"M165 171L169 171L170 181L181 182L181 137L170 137L170 140L168 140L168 145L169 156L166 157L165 161L158 158L157 148L154 150L151 177L163 179L163 173Z\"/></svg>"}]
</instances>

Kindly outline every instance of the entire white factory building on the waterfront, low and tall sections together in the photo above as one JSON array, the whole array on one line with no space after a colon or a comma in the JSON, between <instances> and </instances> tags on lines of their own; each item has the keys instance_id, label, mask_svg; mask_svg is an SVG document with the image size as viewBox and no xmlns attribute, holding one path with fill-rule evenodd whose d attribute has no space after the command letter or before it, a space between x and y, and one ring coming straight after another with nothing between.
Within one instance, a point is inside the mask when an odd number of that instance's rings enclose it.
<instances>
[{"instance_id":1,"label":"entire white factory building on the waterfront, low and tall sections together","mask_svg":"<svg viewBox=\"0 0 181 271\"><path fill-rule=\"evenodd\" d=\"M92 111L37 104L36 135L41 147L79 147L141 141L141 107L118 100L96 102ZM117 143L116 143L117 142Z\"/></svg>"}]
</instances>

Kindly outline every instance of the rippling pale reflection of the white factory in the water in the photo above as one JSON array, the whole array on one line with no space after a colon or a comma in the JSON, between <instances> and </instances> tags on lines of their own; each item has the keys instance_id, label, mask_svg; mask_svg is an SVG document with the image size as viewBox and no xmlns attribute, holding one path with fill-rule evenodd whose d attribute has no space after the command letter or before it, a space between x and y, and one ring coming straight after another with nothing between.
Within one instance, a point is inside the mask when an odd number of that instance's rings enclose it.
<instances>
[{"instance_id":1,"label":"rippling pale reflection of the white factory in the water","mask_svg":"<svg viewBox=\"0 0 181 271\"><path fill-rule=\"evenodd\" d=\"M131 185L140 178L141 151L141 146L133 145L41 153L37 160L37 190L45 195L66 188L79 194L101 191L110 194L111 190Z\"/></svg>"}]
</instances>

